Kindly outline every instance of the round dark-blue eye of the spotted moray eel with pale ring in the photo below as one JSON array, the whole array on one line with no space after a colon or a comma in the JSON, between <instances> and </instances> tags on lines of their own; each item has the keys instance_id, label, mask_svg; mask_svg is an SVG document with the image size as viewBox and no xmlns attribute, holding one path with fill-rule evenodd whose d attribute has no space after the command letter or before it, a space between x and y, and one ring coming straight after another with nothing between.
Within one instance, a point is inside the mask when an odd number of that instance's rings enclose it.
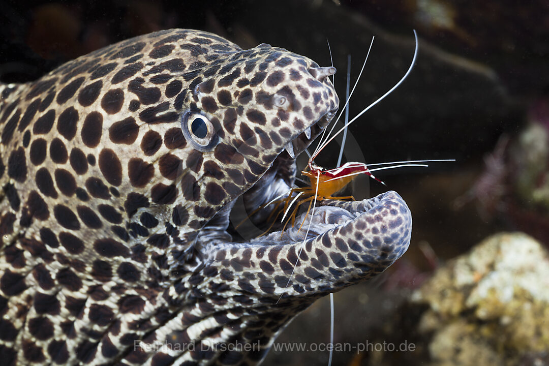
<instances>
[{"instance_id":1,"label":"round dark-blue eye of the spotted moray eel with pale ring","mask_svg":"<svg viewBox=\"0 0 549 366\"><path fill-rule=\"evenodd\" d=\"M187 111L181 119L183 136L193 148L199 151L210 151L219 142L219 137L210 120L197 112Z\"/></svg>"}]
</instances>

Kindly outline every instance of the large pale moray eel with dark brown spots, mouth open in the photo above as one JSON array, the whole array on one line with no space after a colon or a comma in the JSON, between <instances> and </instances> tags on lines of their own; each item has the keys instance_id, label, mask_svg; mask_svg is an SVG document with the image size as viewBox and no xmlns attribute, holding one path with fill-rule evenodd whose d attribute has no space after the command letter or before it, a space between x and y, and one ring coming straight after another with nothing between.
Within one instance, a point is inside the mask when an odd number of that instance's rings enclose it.
<instances>
[{"instance_id":1,"label":"large pale moray eel with dark brown spots, mouth open","mask_svg":"<svg viewBox=\"0 0 549 366\"><path fill-rule=\"evenodd\" d=\"M292 186L285 148L332 119L333 72L166 30L2 85L2 363L253 365L313 301L390 266L411 233L395 192L320 202L303 246L228 231L238 199Z\"/></svg>"}]
</instances>

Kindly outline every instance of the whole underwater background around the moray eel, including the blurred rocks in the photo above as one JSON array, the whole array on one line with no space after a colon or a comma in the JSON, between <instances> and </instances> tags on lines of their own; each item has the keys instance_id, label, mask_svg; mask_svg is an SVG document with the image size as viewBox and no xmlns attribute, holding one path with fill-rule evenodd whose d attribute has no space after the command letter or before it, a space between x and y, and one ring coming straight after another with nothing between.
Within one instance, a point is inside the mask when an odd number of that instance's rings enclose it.
<instances>
[{"instance_id":1,"label":"whole underwater background around the moray eel, including the blurred rocks","mask_svg":"<svg viewBox=\"0 0 549 366\"><path fill-rule=\"evenodd\" d=\"M404 75L415 29L410 76L350 127L344 156L456 161L376 173L410 207L411 245L379 278L335 294L334 342L351 348L336 350L333 364L549 364L547 2L8 1L0 80L35 80L94 49L176 27L243 49L268 43L321 66L331 63L329 42L340 108L348 55L352 85L375 36L351 117ZM317 162L335 167L339 146ZM349 192L385 190L360 177ZM502 232L517 233L491 237ZM327 298L317 301L275 341L308 351L271 349L263 364L327 364L319 345L329 342L329 311ZM376 347L384 342L414 350Z\"/></svg>"}]
</instances>

